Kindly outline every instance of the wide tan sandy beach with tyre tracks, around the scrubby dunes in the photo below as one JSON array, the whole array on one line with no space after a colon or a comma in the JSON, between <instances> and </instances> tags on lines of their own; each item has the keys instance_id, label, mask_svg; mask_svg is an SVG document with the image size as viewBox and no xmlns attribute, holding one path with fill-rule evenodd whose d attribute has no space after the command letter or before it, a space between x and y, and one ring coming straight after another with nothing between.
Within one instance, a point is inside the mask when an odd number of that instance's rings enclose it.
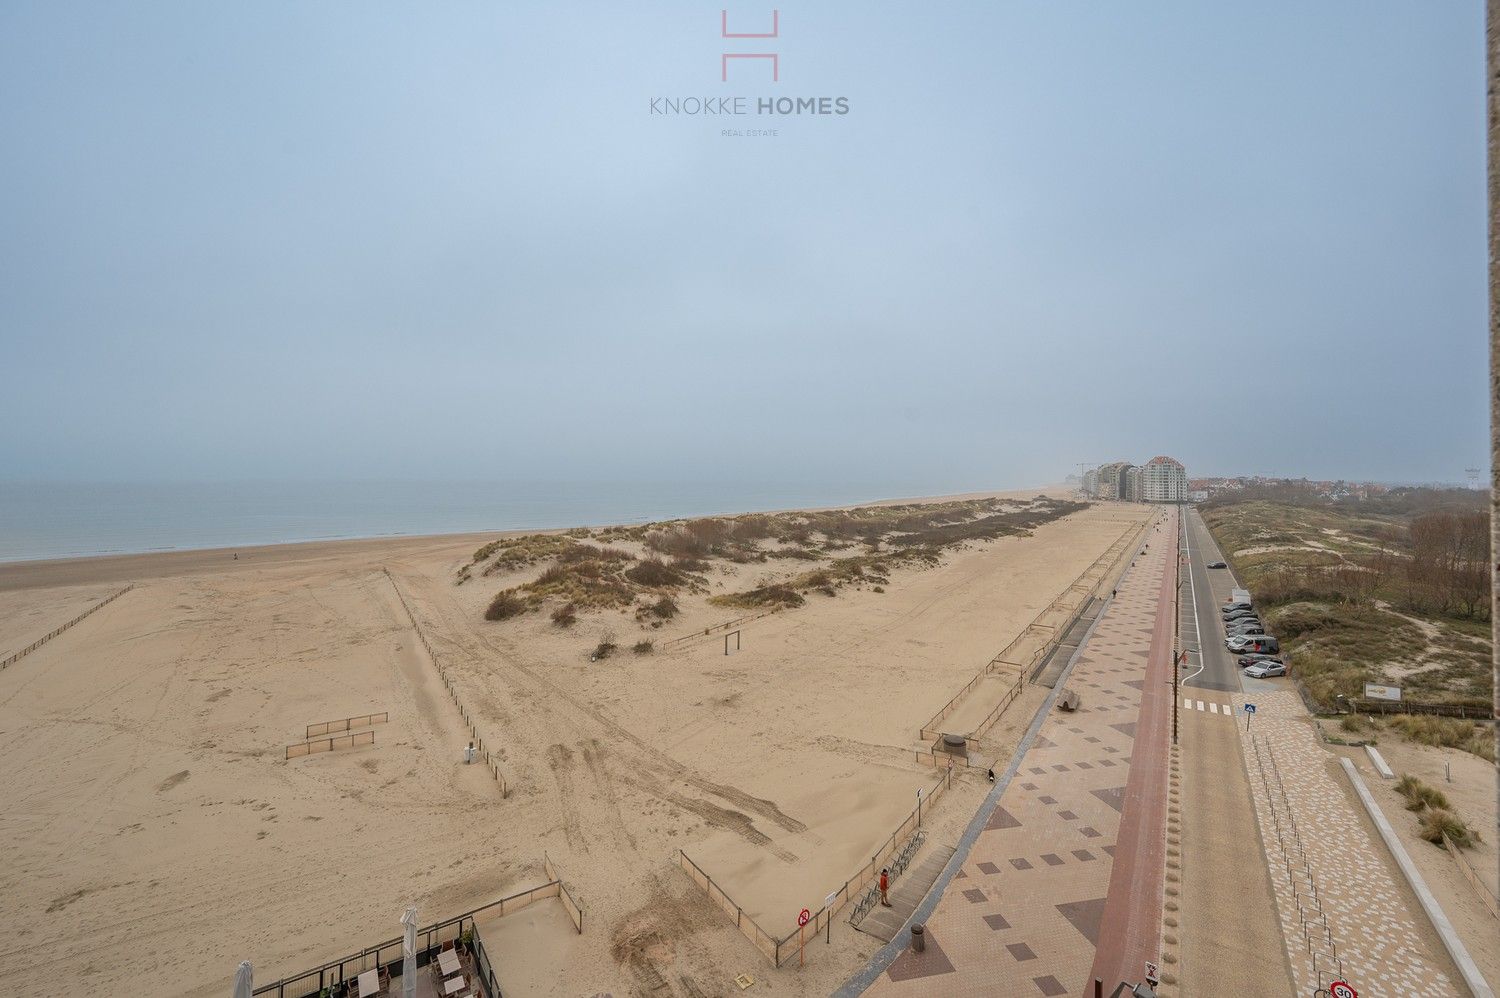
<instances>
[{"instance_id":1,"label":"wide tan sandy beach with tyre tracks, around the scrubby dunes","mask_svg":"<svg viewBox=\"0 0 1500 998\"><path fill-rule=\"evenodd\" d=\"M507 993L717 995L738 972L826 993L876 939L837 920L806 968L774 969L676 851L795 929L938 779L914 762L921 725L1149 516L1095 504L813 593L741 626L729 656L718 633L666 644L742 612L712 596L808 564L716 561L658 627L597 609L570 629L484 620L536 569L456 584L498 534L0 566L0 657L135 584L0 672L0 978L16 995L196 995L252 959L266 983L394 936L410 902L426 923L540 884L546 851L586 927L556 902L483 927ZM398 590L508 797L462 764L470 729ZM591 662L606 636L622 651ZM639 639L660 647L632 654ZM372 746L285 758L308 725L372 711L388 713ZM981 783L954 782L932 840L957 834ZM51 950L69 956L64 992L38 957Z\"/></svg>"}]
</instances>

